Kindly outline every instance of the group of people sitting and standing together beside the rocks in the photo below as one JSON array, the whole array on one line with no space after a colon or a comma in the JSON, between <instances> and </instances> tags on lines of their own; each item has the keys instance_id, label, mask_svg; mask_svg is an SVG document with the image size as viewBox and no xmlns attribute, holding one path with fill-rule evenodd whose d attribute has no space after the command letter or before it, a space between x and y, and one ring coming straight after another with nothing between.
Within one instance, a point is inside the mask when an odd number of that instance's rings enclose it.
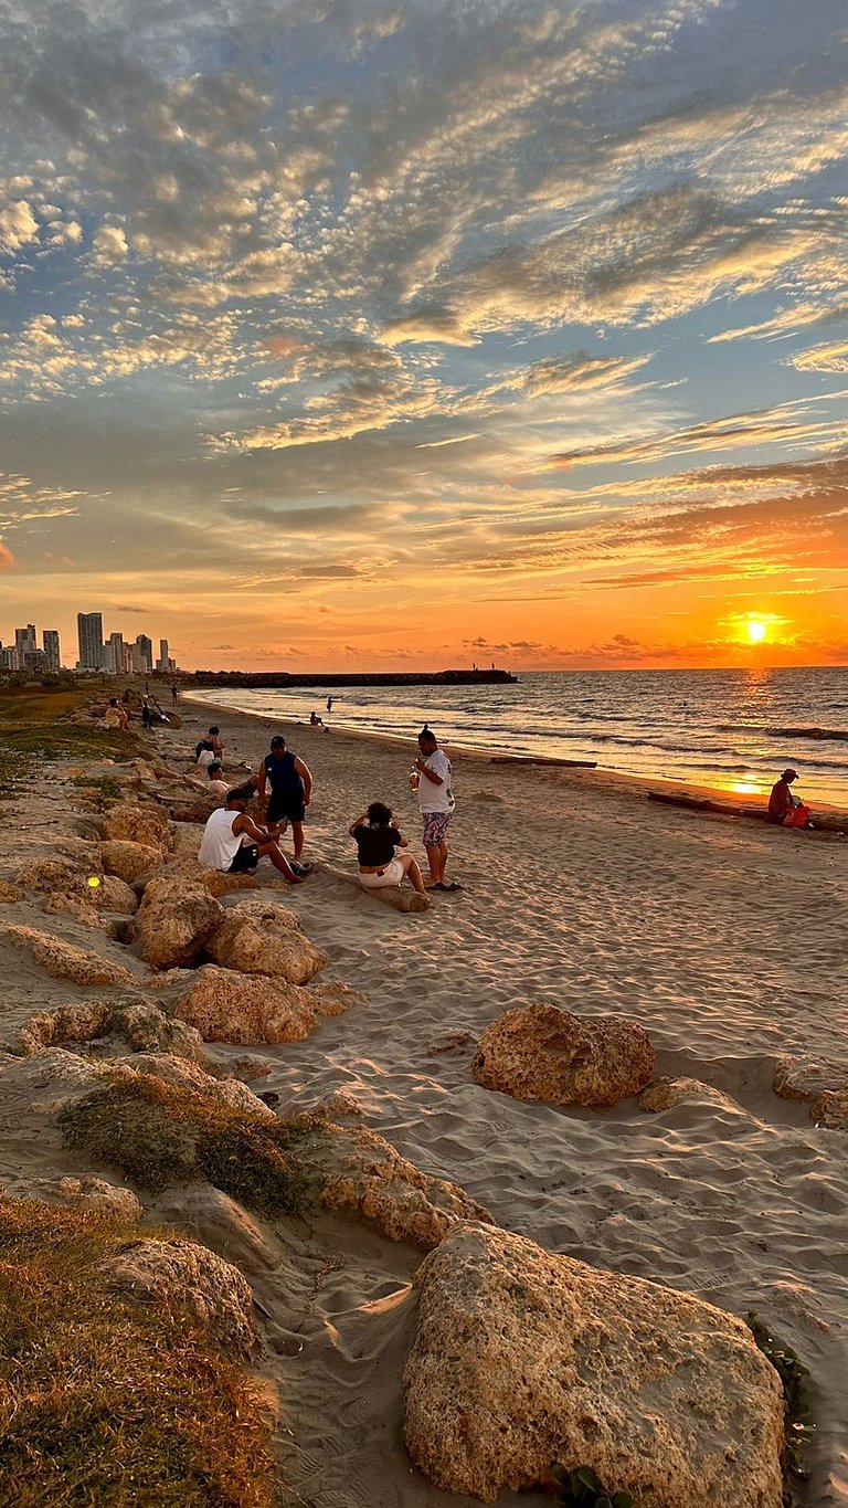
<instances>
[{"instance_id":1,"label":"group of people sitting and standing together beside the rocks","mask_svg":"<svg viewBox=\"0 0 848 1508\"><path fill-rule=\"evenodd\" d=\"M197 766L206 771L208 790L223 807L206 820L199 863L227 873L252 873L261 858L268 858L292 885L301 884L310 872L303 863L304 819L312 801L313 777L304 760L288 748L282 733L271 739L270 752L255 777L229 787L221 778L224 748L221 730L212 725L196 748ZM408 879L420 894L426 891L455 893L461 885L447 882L447 834L453 814L452 766L438 739L423 727L417 739L417 756L410 772L410 789L417 792L422 816L422 837L429 876L425 882L417 860L408 852L405 838L395 823L392 808L372 801L348 828L357 844L358 878L365 890L396 887ZM261 822L249 814L258 798ZM280 837L291 825L294 857L289 860Z\"/></svg>"}]
</instances>

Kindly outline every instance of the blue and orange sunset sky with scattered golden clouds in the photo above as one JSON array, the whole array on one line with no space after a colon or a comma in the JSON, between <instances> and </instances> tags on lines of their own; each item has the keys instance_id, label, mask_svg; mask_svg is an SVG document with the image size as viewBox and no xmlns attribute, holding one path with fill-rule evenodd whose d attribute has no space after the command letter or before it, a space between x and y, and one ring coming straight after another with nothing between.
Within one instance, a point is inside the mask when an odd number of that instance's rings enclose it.
<instances>
[{"instance_id":1,"label":"blue and orange sunset sky with scattered golden clouds","mask_svg":"<svg viewBox=\"0 0 848 1508\"><path fill-rule=\"evenodd\" d=\"M0 0L0 639L848 664L843 0Z\"/></svg>"}]
</instances>

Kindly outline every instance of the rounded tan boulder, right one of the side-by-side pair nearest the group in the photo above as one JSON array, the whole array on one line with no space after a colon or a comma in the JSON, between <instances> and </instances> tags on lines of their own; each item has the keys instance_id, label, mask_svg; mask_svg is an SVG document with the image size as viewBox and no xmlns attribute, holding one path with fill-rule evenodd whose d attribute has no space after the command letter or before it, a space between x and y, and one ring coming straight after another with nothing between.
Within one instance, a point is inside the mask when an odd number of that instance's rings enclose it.
<instances>
[{"instance_id":1,"label":"rounded tan boulder, right one of the side-by-side pair nearest the group","mask_svg":"<svg viewBox=\"0 0 848 1508\"><path fill-rule=\"evenodd\" d=\"M241 900L226 912L205 950L223 968L271 974L289 985L306 985L327 964L294 911L267 900Z\"/></svg>"}]
</instances>

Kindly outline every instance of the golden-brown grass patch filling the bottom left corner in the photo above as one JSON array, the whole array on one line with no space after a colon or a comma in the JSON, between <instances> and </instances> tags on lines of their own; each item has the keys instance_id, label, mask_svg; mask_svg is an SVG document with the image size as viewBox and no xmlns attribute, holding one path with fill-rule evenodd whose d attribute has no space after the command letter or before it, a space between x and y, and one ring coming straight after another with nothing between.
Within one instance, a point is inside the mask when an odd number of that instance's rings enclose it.
<instances>
[{"instance_id":1,"label":"golden-brown grass patch filling the bottom left corner","mask_svg":"<svg viewBox=\"0 0 848 1508\"><path fill-rule=\"evenodd\" d=\"M155 1232L0 1205L0 1500L15 1508L271 1508L273 1421L202 1323L105 1291Z\"/></svg>"}]
</instances>

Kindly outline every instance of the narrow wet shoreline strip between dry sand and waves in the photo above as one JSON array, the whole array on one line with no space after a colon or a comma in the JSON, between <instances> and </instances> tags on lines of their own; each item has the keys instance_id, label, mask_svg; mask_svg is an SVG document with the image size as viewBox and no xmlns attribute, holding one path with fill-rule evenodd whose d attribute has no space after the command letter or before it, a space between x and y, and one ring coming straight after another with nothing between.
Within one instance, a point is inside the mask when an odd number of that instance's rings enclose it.
<instances>
[{"instance_id":1,"label":"narrow wet shoreline strip between dry sand and waves","mask_svg":"<svg viewBox=\"0 0 848 1508\"><path fill-rule=\"evenodd\" d=\"M354 743L374 743L383 749L407 748L411 754L414 752L414 739L401 734L377 733L368 731L365 728L346 728L346 727L312 727L309 722L301 722L297 719L289 719L283 716L271 716L267 712L247 712L243 707L232 707L220 701L206 701L205 698L193 697L190 692L181 692L179 706L188 706L191 710L200 710L209 707L212 712L220 713L226 718L246 718L249 722L256 722L265 730L280 730L286 734L289 731L300 733L304 731L315 736L318 740L330 736L334 743L342 739L349 739ZM440 745L450 752L452 762L468 760L474 766L487 765L490 766L497 757L499 763L493 765L493 769L524 769L527 772L541 769L545 774L556 774L566 777L569 780L589 780L595 787L607 787L609 790L619 790L631 793L633 796L648 796L651 790L660 790L667 793L678 793L681 796L691 796L694 799L715 801L728 805L728 816L734 816L737 807L744 807L747 810L764 810L768 801L767 795L753 795L752 792L732 792L723 786L708 786L696 781L684 781L670 775L630 775L625 771L615 771L604 766L590 769L581 765L563 766L551 756L533 756L530 760L527 756L517 756L515 762L511 763L509 757L503 754L502 749L485 748L477 745L456 745L450 739L440 739ZM776 777L777 778L777 774ZM848 807L836 807L831 802L816 801L815 811L827 813L828 816L845 816L848 820ZM717 813L723 814L723 813Z\"/></svg>"}]
</instances>

